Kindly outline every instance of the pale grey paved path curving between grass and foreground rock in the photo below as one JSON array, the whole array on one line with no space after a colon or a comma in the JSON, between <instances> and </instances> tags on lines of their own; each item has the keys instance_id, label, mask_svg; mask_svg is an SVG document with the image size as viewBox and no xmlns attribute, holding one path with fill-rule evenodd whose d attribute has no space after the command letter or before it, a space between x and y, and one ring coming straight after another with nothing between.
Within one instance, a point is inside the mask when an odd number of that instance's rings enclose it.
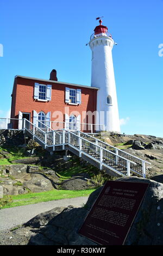
<instances>
[{"instance_id":1,"label":"pale grey paved path curving between grass and foreground rock","mask_svg":"<svg viewBox=\"0 0 163 256\"><path fill-rule=\"evenodd\" d=\"M26 223L41 212L52 210L55 207L67 207L68 205L73 205L76 208L82 207L87 199L88 197L68 198L2 209L0 210L0 230L7 230Z\"/></svg>"}]
</instances>

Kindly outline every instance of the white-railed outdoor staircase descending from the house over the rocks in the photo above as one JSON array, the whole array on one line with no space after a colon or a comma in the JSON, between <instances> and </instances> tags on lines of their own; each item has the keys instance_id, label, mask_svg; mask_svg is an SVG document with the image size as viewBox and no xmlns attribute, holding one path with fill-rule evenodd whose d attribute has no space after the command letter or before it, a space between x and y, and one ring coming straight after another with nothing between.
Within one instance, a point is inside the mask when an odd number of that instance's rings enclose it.
<instances>
[{"instance_id":1,"label":"white-railed outdoor staircase descending from the house over the rocks","mask_svg":"<svg viewBox=\"0 0 163 256\"><path fill-rule=\"evenodd\" d=\"M71 132L66 129L54 131L46 125L44 127L45 130L41 130L27 119L23 119L23 132L43 148L49 151L70 150L99 169L105 169L109 174L117 176L134 174L145 178L145 163L151 164L87 133Z\"/></svg>"}]
</instances>

